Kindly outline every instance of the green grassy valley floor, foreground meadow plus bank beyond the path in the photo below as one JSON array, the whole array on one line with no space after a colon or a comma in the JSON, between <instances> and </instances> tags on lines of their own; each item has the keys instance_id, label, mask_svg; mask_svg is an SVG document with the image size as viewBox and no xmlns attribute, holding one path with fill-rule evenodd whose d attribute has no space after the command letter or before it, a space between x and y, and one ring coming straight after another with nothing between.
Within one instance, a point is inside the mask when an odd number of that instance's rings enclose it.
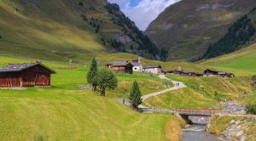
<instances>
[{"instance_id":1,"label":"green grassy valley floor, foreground meadow plus bank beyond the path","mask_svg":"<svg viewBox=\"0 0 256 141\"><path fill-rule=\"evenodd\" d=\"M114 57L117 58L119 56ZM99 60L102 67L104 61L101 61L102 58ZM149 65L160 63L145 61ZM34 60L0 56L0 66L24 62ZM102 98L98 93L78 88L81 84L87 84L85 75L88 65L49 61L44 64L57 72L52 76L52 87L0 89L2 140L180 140L184 123L176 116L137 113L116 100L128 98L134 80L139 83L143 95L173 87L165 85L168 80L143 73L117 74L117 89L108 90L107 97ZM178 63L163 65L174 68ZM197 65L182 65L185 68L191 66L195 70L202 70ZM201 109L220 108L218 100L238 99L241 95L246 95L240 100L243 104L255 100L255 94L250 94L253 88L244 83L247 77L167 77L184 82L188 87L150 97L143 104L166 109Z\"/></svg>"}]
</instances>

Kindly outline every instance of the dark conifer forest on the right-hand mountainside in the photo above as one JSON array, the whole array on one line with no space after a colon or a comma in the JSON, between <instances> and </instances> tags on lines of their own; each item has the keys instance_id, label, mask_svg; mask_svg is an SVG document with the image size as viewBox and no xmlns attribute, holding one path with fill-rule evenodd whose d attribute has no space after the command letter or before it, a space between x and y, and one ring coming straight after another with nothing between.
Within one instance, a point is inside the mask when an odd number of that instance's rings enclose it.
<instances>
[{"instance_id":1,"label":"dark conifer forest on the right-hand mountainside","mask_svg":"<svg viewBox=\"0 0 256 141\"><path fill-rule=\"evenodd\" d=\"M209 59L241 49L250 41L254 33L253 21L250 19L249 14L246 14L230 26L224 37L209 46L203 58Z\"/></svg>"}]
</instances>

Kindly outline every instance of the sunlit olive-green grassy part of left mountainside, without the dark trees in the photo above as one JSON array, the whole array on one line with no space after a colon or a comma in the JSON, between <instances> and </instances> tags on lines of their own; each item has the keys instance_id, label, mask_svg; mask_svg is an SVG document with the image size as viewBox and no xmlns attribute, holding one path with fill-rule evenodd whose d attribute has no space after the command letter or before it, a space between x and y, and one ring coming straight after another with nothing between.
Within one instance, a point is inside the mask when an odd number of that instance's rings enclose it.
<instances>
[{"instance_id":1,"label":"sunlit olive-green grassy part of left mountainside, without the dark trees","mask_svg":"<svg viewBox=\"0 0 256 141\"><path fill-rule=\"evenodd\" d=\"M0 1L1 54L67 61L106 52L90 25L83 23L79 14L73 13L73 9L61 1L50 5L41 3L40 8L33 4L24 5ZM59 8L55 9L55 14L47 14L53 11L53 7ZM98 16L102 13L99 12Z\"/></svg>"}]
</instances>

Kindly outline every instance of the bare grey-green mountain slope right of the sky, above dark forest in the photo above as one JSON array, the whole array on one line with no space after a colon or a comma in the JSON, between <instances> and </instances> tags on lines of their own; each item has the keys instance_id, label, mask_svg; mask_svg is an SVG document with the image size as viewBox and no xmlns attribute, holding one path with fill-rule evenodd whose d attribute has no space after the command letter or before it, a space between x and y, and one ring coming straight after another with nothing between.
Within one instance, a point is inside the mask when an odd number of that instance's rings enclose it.
<instances>
[{"instance_id":1,"label":"bare grey-green mountain slope right of the sky, above dark forest","mask_svg":"<svg viewBox=\"0 0 256 141\"><path fill-rule=\"evenodd\" d=\"M255 6L252 0L182 0L166 8L146 33L168 60L195 60Z\"/></svg>"}]
</instances>

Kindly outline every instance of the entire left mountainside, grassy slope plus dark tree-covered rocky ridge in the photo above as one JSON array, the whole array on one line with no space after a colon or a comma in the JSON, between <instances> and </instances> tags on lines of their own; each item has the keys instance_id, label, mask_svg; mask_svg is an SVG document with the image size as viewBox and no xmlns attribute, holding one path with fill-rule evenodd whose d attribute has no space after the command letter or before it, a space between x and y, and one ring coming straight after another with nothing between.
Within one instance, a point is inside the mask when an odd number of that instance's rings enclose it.
<instances>
[{"instance_id":1,"label":"entire left mountainside, grassy slope plus dark tree-covered rocky ridge","mask_svg":"<svg viewBox=\"0 0 256 141\"><path fill-rule=\"evenodd\" d=\"M154 43L106 0L0 0L0 50L73 62L113 52L160 59Z\"/></svg>"}]
</instances>

